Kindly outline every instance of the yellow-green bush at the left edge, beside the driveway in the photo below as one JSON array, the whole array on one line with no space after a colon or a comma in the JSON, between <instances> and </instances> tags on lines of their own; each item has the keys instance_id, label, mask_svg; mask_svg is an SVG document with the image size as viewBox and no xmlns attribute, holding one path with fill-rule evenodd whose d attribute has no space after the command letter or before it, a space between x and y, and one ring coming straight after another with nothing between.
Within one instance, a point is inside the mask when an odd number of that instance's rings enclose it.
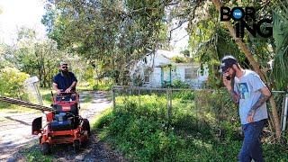
<instances>
[{"instance_id":1,"label":"yellow-green bush at the left edge, beside the driveway","mask_svg":"<svg viewBox=\"0 0 288 162\"><path fill-rule=\"evenodd\" d=\"M29 77L13 67L0 70L0 94L10 97L25 98L23 82Z\"/></svg>"}]
</instances>

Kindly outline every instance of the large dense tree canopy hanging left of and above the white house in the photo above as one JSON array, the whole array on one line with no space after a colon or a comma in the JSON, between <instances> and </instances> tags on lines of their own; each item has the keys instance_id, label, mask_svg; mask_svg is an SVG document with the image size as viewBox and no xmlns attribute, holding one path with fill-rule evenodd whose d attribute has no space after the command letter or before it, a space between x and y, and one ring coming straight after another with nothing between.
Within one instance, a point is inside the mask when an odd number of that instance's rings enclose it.
<instances>
[{"instance_id":1,"label":"large dense tree canopy hanging left of and above the white house","mask_svg":"<svg viewBox=\"0 0 288 162\"><path fill-rule=\"evenodd\" d=\"M126 71L133 61L166 40L166 24L162 21L166 3L47 1L49 7L42 23L60 49L76 51L94 61L99 73L118 70L114 81L127 84Z\"/></svg>"}]
</instances>

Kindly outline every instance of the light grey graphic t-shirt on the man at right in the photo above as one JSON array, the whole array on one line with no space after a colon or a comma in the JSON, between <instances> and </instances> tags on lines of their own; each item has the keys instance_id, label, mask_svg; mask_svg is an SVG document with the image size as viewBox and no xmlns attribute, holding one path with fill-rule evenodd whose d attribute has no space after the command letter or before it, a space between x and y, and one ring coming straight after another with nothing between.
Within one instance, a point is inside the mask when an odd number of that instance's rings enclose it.
<instances>
[{"instance_id":1,"label":"light grey graphic t-shirt on the man at right","mask_svg":"<svg viewBox=\"0 0 288 162\"><path fill-rule=\"evenodd\" d=\"M235 76L234 91L239 96L239 115L241 124L247 124L247 114L251 107L257 103L261 92L260 89L266 86L256 72L244 70L243 76ZM254 121L267 119L266 103L262 104L254 115Z\"/></svg>"}]
</instances>

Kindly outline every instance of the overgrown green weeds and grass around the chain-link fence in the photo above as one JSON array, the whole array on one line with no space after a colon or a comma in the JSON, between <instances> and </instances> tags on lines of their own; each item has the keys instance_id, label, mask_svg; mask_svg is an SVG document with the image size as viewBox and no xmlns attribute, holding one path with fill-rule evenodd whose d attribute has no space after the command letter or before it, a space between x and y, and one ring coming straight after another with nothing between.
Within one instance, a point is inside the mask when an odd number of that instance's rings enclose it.
<instances>
[{"instance_id":1,"label":"overgrown green weeds and grass around the chain-link fence","mask_svg":"<svg viewBox=\"0 0 288 162\"><path fill-rule=\"evenodd\" d=\"M139 96L120 96L116 108L105 112L94 127L130 161L237 161L240 125L229 113L216 114L225 112L220 105L227 102L227 94L203 94L204 101L198 101L201 95L174 95L170 127L165 95L141 95L140 108ZM215 98L209 105L199 103ZM264 155L266 161L288 161L285 146L265 144Z\"/></svg>"}]
</instances>

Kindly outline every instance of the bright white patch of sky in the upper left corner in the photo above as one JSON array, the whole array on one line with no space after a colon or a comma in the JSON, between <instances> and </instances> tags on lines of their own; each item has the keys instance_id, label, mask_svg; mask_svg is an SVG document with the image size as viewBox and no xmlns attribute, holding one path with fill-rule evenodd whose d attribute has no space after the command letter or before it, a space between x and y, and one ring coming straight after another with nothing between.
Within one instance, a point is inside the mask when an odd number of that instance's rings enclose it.
<instances>
[{"instance_id":1,"label":"bright white patch of sky in the upper left corner","mask_svg":"<svg viewBox=\"0 0 288 162\"><path fill-rule=\"evenodd\" d=\"M40 23L45 14L41 0L0 0L0 8L0 42L13 44L22 26L34 29L39 39L45 37L45 26Z\"/></svg>"}]
</instances>

